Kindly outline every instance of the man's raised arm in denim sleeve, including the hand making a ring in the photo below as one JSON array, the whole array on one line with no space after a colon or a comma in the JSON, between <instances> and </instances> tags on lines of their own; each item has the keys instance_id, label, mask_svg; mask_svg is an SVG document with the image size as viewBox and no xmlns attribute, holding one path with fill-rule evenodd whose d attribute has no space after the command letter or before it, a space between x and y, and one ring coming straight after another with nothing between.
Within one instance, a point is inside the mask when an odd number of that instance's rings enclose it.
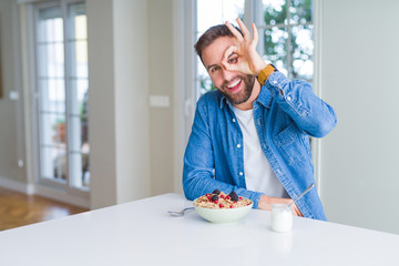
<instances>
[{"instance_id":1,"label":"man's raised arm in denim sleeve, including the hand making a ring","mask_svg":"<svg viewBox=\"0 0 399 266\"><path fill-rule=\"evenodd\" d=\"M259 76L267 63L256 51L258 33L255 24L252 24L253 37L243 21L238 18L237 23L243 31L242 35L229 22L227 28L232 31L237 45L229 47L223 64L227 70L241 71L242 73ZM237 54L237 62L231 62L232 54ZM275 72L266 76L265 84L276 96L280 108L289 114L298 127L310 136L321 137L329 133L337 123L336 114L331 106L315 95L311 86L305 81L290 81L283 73Z\"/></svg>"}]
</instances>

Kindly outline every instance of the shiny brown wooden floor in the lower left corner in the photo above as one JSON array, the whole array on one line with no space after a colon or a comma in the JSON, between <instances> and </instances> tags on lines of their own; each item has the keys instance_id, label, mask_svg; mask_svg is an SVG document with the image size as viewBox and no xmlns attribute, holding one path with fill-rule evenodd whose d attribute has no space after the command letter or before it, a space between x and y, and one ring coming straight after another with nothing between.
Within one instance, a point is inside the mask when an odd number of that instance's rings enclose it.
<instances>
[{"instance_id":1,"label":"shiny brown wooden floor in the lower left corner","mask_svg":"<svg viewBox=\"0 0 399 266\"><path fill-rule=\"evenodd\" d=\"M86 211L89 209L0 187L0 231Z\"/></svg>"}]
</instances>

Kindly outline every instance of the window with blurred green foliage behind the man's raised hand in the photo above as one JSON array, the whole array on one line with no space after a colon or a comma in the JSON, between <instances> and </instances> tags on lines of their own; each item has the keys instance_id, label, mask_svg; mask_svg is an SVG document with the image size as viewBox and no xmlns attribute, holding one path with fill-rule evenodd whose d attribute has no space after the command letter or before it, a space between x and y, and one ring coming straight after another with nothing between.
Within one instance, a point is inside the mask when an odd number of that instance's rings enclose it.
<instances>
[{"instance_id":1,"label":"window with blurred green foliage behind the man's raised hand","mask_svg":"<svg viewBox=\"0 0 399 266\"><path fill-rule=\"evenodd\" d=\"M262 54L289 79L313 81L311 0L264 0Z\"/></svg>"}]
</instances>

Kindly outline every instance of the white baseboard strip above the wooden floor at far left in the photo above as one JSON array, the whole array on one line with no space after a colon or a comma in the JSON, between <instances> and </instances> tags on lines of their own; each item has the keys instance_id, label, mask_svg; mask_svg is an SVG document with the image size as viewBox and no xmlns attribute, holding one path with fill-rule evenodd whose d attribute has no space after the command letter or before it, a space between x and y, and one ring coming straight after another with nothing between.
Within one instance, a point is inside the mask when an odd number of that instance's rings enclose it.
<instances>
[{"instance_id":1,"label":"white baseboard strip above the wooden floor at far left","mask_svg":"<svg viewBox=\"0 0 399 266\"><path fill-rule=\"evenodd\" d=\"M70 195L64 191L59 191L54 188L50 188L43 185L33 185L25 184L18 181L13 181L3 176L0 176L0 186L10 191L20 192L27 195L39 195L42 197L48 197L58 202L68 203L71 205L90 208L90 200L82 197Z\"/></svg>"}]
</instances>

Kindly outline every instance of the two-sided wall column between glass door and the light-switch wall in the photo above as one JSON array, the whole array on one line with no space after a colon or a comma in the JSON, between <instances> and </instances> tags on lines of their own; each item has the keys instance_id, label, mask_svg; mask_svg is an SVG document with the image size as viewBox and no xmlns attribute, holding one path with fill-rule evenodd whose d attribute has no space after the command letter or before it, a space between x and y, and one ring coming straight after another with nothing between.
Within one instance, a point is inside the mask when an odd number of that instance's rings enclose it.
<instances>
[{"instance_id":1,"label":"two-sided wall column between glass door and the light-switch wall","mask_svg":"<svg viewBox=\"0 0 399 266\"><path fill-rule=\"evenodd\" d=\"M88 0L91 205L150 196L147 6Z\"/></svg>"}]
</instances>

